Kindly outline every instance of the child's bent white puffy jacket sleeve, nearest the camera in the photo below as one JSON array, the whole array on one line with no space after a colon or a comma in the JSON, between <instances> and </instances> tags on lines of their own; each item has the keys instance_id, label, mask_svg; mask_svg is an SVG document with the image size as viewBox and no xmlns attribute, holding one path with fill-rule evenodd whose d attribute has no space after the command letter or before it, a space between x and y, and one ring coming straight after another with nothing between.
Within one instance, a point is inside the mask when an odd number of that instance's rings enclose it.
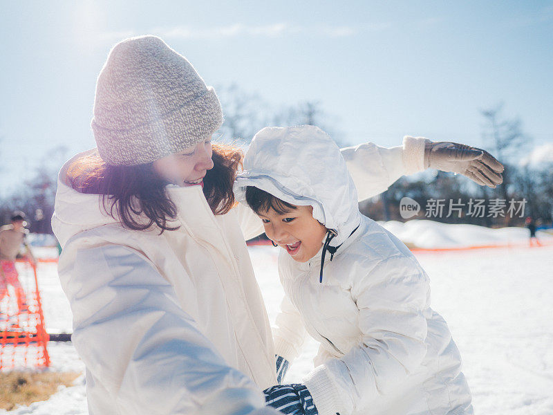
<instances>
[{"instance_id":1,"label":"child's bent white puffy jacket sleeve, nearest the camera","mask_svg":"<svg viewBox=\"0 0 553 415\"><path fill-rule=\"evenodd\" d=\"M391 394L420 367L427 353L429 284L412 258L377 264L351 288L359 308L362 344L327 360L304 379L320 415L366 410L380 394Z\"/></svg>"}]
</instances>

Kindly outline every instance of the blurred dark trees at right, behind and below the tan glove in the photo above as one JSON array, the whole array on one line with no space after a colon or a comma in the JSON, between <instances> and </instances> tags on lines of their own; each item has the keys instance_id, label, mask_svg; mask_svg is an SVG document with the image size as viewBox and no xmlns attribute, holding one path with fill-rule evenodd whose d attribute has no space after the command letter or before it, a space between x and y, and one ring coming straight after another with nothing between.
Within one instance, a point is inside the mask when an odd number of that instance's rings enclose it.
<instances>
[{"instance_id":1,"label":"blurred dark trees at right, behind and below the tan glove","mask_svg":"<svg viewBox=\"0 0 553 415\"><path fill-rule=\"evenodd\" d=\"M551 226L553 163L521 163L532 149L531 140L523 133L521 120L505 119L501 111L498 105L481 114L485 147L505 165L502 185L481 187L444 172L421 174L416 180L404 177L375 200L361 203L362 212L375 220L406 221L400 203L409 197L420 205L420 212L411 219L503 227L524 225L531 216L538 225Z\"/></svg>"}]
</instances>

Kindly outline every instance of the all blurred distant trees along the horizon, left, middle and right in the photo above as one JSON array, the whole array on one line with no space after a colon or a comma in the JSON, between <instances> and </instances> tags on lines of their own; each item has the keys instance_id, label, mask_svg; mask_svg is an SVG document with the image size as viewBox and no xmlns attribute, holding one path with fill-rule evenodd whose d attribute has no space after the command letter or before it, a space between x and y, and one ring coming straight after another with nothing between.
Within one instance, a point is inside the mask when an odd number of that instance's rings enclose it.
<instances>
[{"instance_id":1,"label":"all blurred distant trees along the horizon, left, middle and right","mask_svg":"<svg viewBox=\"0 0 553 415\"><path fill-rule=\"evenodd\" d=\"M218 87L217 91L225 113L220 134L226 142L245 147L254 133L267 125L311 124L330 133L338 145L351 144L339 131L336 119L325 113L319 102L306 101L274 108L259 95L247 93L236 84ZM401 178L384 194L363 201L359 204L362 212L375 220L406 221L400 202L409 197L420 205L418 215L410 219L500 227L520 226L525 216L533 216L541 223L550 225L553 214L553 163L521 165L518 160L520 155L526 154L531 146L522 131L520 120L505 120L500 106L481 113L486 149L505 165L503 185L489 189L462 176L424 172L414 179ZM57 172L66 156L64 147L57 147L44 155L32 178L0 201L1 223L8 223L14 210L21 210L28 216L31 232L52 232L50 218L54 212ZM520 208L523 201L523 212L514 212L514 208ZM500 209L501 203L504 203L503 209ZM483 214L482 204L485 205ZM510 214L509 207L512 208Z\"/></svg>"}]
</instances>

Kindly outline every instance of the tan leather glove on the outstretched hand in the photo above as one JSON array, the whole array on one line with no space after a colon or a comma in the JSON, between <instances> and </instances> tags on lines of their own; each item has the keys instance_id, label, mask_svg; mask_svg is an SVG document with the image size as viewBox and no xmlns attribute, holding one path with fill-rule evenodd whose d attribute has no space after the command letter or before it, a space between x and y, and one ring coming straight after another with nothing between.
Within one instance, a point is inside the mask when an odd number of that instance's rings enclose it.
<instances>
[{"instance_id":1,"label":"tan leather glove on the outstretched hand","mask_svg":"<svg viewBox=\"0 0 553 415\"><path fill-rule=\"evenodd\" d=\"M503 183L503 165L487 151L456 142L432 142L424 145L424 166L442 172L462 174L481 186Z\"/></svg>"}]
</instances>

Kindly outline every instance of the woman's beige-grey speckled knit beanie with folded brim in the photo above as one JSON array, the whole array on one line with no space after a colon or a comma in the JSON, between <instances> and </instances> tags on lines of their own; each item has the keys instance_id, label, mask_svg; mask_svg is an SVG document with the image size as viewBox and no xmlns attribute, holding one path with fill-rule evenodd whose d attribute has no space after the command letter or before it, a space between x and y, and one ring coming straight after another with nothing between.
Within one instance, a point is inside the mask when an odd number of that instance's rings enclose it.
<instances>
[{"instance_id":1,"label":"woman's beige-grey speckled knit beanie with folded brim","mask_svg":"<svg viewBox=\"0 0 553 415\"><path fill-rule=\"evenodd\" d=\"M96 83L92 129L109 165L139 165L209 138L223 122L214 89L155 36L116 44Z\"/></svg>"}]
</instances>

